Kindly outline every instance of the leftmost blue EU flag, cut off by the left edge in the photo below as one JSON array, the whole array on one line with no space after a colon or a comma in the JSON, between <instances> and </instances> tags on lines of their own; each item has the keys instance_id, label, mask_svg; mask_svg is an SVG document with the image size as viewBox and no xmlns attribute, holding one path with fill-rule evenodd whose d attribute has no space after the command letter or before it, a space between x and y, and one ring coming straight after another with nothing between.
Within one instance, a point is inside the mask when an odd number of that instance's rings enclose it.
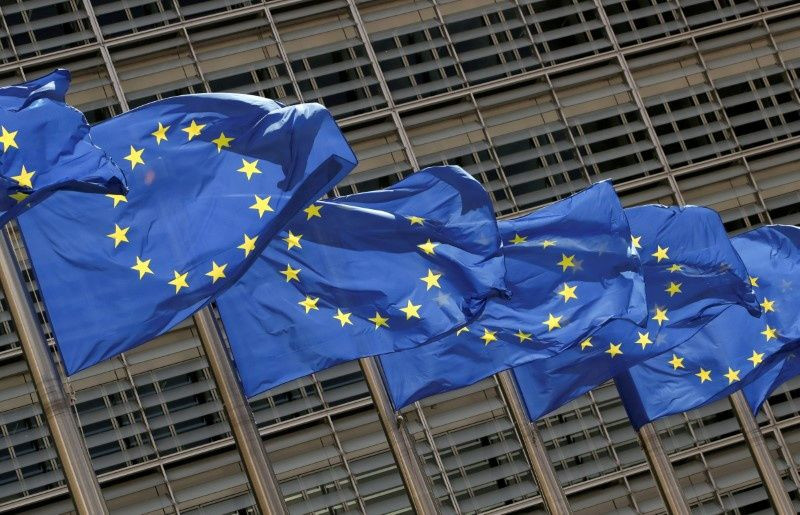
<instances>
[{"instance_id":1,"label":"leftmost blue EU flag, cut off by the left edge","mask_svg":"<svg viewBox=\"0 0 800 515\"><path fill-rule=\"evenodd\" d=\"M125 175L64 103L69 72L0 88L0 226L53 191L124 194Z\"/></svg>"}]
</instances>

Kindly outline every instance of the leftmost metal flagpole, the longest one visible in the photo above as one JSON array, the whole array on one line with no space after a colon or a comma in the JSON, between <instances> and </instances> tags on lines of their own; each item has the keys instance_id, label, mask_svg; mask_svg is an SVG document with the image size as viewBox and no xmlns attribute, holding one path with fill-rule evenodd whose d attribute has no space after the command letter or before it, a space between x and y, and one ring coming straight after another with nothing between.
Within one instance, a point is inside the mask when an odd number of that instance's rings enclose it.
<instances>
[{"instance_id":1,"label":"leftmost metal flagpole, the longest one visible","mask_svg":"<svg viewBox=\"0 0 800 515\"><path fill-rule=\"evenodd\" d=\"M0 285L14 319L20 346L28 360L36 394L47 418L75 508L78 513L87 515L108 513L77 418L64 393L61 377L13 257L8 233L0 232L3 233L0 237Z\"/></svg>"}]
</instances>

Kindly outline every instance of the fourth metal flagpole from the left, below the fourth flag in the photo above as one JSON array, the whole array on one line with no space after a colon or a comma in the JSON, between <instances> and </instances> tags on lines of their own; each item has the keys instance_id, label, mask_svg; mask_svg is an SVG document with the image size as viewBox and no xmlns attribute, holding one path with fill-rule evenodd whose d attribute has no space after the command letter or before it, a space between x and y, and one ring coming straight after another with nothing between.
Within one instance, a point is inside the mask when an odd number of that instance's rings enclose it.
<instances>
[{"instance_id":1,"label":"fourth metal flagpole from the left, below the fourth flag","mask_svg":"<svg viewBox=\"0 0 800 515\"><path fill-rule=\"evenodd\" d=\"M553 470L553 465L547 455L547 449L544 447L539 431L528 419L528 413L522 404L522 398L514 376L511 375L511 371L504 370L495 377L505 398L506 406L508 406L511 417L514 419L514 425L517 426L519 431L522 447L525 449L525 454L528 455L533 477L539 486L539 492L542 494L547 511L554 515L569 515L567 496L564 495L564 491L561 489L561 484L558 482L555 470Z\"/></svg>"}]
</instances>

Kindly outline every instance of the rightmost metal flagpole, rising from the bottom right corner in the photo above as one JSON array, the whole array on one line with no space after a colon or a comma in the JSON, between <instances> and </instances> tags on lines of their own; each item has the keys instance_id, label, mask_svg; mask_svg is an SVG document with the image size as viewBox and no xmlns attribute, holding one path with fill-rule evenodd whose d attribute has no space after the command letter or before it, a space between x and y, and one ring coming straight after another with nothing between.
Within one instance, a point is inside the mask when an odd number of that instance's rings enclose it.
<instances>
[{"instance_id":1,"label":"rightmost metal flagpole, rising from the bottom right corner","mask_svg":"<svg viewBox=\"0 0 800 515\"><path fill-rule=\"evenodd\" d=\"M767 495L775 513L780 515L796 513L792 501L783 487L783 480L778 474L778 469L769 455L764 435L761 434L755 417L750 413L750 407L747 405L747 400L745 400L741 390L731 394L728 399L731 401L734 413L736 413L747 447L750 448L750 454L753 455L758 475L761 476L764 488L767 489Z\"/></svg>"}]
</instances>

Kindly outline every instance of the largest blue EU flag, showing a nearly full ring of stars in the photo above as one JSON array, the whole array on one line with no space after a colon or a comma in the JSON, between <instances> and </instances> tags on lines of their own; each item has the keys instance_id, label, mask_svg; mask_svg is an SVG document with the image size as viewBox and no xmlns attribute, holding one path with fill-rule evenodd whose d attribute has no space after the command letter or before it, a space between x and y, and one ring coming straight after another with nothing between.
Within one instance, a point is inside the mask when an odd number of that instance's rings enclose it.
<instances>
[{"instance_id":1,"label":"largest blue EU flag, showing a nearly full ring of stars","mask_svg":"<svg viewBox=\"0 0 800 515\"><path fill-rule=\"evenodd\" d=\"M153 102L91 134L128 195L64 192L20 217L70 374L210 302L356 162L322 106L247 95Z\"/></svg>"}]
</instances>

